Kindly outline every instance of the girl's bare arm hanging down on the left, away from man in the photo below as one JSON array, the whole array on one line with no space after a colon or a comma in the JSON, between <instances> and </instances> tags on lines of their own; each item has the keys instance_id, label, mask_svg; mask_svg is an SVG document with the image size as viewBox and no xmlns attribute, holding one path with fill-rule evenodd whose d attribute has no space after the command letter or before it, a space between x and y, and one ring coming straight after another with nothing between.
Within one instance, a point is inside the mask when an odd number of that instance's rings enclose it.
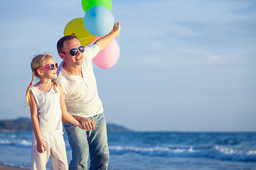
<instances>
[{"instance_id":1,"label":"girl's bare arm hanging down on the left, away from man","mask_svg":"<svg viewBox=\"0 0 256 170\"><path fill-rule=\"evenodd\" d=\"M32 126L33 126L33 131L36 137L36 148L38 150L39 153L43 153L46 151L46 144L43 142L43 140L41 139L41 135L40 135L40 130L39 130L39 122L38 122L38 111L37 111L37 106L36 106L36 100L33 97L32 92L30 91L30 98L31 98L31 122L32 122Z\"/></svg>"}]
</instances>

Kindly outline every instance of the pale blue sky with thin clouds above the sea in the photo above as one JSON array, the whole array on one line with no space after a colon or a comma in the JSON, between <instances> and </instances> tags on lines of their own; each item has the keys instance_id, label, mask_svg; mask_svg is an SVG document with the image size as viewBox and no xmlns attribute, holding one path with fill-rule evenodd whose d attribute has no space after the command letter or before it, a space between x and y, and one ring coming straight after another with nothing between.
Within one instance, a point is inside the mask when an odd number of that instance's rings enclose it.
<instances>
[{"instance_id":1,"label":"pale blue sky with thin clouds above the sea","mask_svg":"<svg viewBox=\"0 0 256 170\"><path fill-rule=\"evenodd\" d=\"M107 123L256 131L256 1L112 0L111 12L122 24L119 60L94 66ZM1 120L30 117L32 58L49 52L60 64L56 43L84 15L81 1L1 1Z\"/></svg>"}]
</instances>

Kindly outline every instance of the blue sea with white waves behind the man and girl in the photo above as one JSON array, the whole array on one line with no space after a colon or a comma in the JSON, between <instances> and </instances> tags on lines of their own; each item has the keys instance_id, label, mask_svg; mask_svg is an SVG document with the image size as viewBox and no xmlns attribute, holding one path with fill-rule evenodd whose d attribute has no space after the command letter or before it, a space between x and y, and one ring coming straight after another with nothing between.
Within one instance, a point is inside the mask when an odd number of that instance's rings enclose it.
<instances>
[{"instance_id":1,"label":"blue sea with white waves behind the man and girl","mask_svg":"<svg viewBox=\"0 0 256 170\"><path fill-rule=\"evenodd\" d=\"M0 162L30 169L31 139L0 132ZM256 132L108 132L108 144L109 170L256 169Z\"/></svg>"}]
</instances>

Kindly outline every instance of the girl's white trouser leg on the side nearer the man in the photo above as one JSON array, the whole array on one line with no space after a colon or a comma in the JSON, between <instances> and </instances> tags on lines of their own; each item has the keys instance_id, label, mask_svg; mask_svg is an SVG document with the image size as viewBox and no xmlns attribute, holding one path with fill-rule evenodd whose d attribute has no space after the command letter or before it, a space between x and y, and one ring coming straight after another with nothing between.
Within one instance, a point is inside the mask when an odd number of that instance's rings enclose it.
<instances>
[{"instance_id":1,"label":"girl's white trouser leg on the side nearer the man","mask_svg":"<svg viewBox=\"0 0 256 170\"><path fill-rule=\"evenodd\" d=\"M50 141L50 159L53 163L53 169L68 170L68 159L63 132L50 132Z\"/></svg>"}]
</instances>

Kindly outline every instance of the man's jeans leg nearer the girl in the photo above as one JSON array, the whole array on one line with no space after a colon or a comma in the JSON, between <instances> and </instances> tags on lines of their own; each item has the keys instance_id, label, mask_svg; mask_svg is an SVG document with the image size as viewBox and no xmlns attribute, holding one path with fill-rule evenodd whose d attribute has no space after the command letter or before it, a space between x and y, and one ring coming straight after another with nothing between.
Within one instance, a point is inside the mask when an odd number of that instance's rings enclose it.
<instances>
[{"instance_id":1,"label":"man's jeans leg nearer the girl","mask_svg":"<svg viewBox=\"0 0 256 170\"><path fill-rule=\"evenodd\" d=\"M86 130L82 130L70 123L63 123L68 135L68 142L72 149L72 160L69 164L69 170L87 169L87 160L89 156L89 147L87 142Z\"/></svg>"}]
</instances>

